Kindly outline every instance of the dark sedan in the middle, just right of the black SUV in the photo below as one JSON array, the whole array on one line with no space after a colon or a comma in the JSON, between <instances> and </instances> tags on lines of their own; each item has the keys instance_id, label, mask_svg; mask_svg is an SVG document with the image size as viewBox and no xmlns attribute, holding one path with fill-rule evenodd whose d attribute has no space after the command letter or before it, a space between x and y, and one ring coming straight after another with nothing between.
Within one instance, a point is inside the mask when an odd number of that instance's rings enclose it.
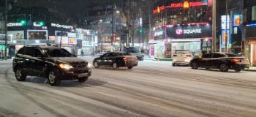
<instances>
[{"instance_id":1,"label":"dark sedan in the middle, just right of the black SUV","mask_svg":"<svg viewBox=\"0 0 256 117\"><path fill-rule=\"evenodd\" d=\"M118 67L128 67L128 69L132 69L132 67L138 66L138 58L129 53L110 52L95 58L92 63L95 68L113 67L113 69L118 69Z\"/></svg>"}]
</instances>

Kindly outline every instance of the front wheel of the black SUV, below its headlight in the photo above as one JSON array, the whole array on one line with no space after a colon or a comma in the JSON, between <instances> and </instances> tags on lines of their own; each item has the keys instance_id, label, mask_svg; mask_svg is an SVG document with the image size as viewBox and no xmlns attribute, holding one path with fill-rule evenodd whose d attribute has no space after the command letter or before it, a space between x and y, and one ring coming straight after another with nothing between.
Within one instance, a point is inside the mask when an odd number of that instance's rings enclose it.
<instances>
[{"instance_id":1,"label":"front wheel of the black SUV, below its headlight","mask_svg":"<svg viewBox=\"0 0 256 117\"><path fill-rule=\"evenodd\" d=\"M49 72L48 80L49 80L50 86L59 86L59 84L61 83L59 75L57 74L56 71Z\"/></svg>"}]
</instances>

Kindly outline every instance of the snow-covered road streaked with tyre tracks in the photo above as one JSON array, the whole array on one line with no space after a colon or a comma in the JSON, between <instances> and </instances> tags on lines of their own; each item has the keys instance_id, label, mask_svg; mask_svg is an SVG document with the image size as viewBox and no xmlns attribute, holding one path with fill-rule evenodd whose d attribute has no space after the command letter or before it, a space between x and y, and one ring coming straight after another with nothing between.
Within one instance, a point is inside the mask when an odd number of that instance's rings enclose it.
<instances>
[{"instance_id":1,"label":"snow-covered road streaked with tyre tracks","mask_svg":"<svg viewBox=\"0 0 256 117\"><path fill-rule=\"evenodd\" d=\"M92 61L91 57L83 59ZM0 64L0 116L255 116L256 72L172 67L140 61L133 69L92 69L86 83L15 80Z\"/></svg>"}]
</instances>

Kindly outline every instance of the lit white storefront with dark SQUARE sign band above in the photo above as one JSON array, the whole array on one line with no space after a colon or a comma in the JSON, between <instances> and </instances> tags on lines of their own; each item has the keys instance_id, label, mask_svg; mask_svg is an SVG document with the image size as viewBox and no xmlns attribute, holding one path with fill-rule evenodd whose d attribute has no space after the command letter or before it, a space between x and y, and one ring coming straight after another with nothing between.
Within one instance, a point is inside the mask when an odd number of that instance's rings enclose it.
<instances>
[{"instance_id":1,"label":"lit white storefront with dark SQUARE sign band above","mask_svg":"<svg viewBox=\"0 0 256 117\"><path fill-rule=\"evenodd\" d=\"M170 58L174 50L211 50L211 25L188 23L165 25L153 31L154 57ZM152 56L151 50L151 56Z\"/></svg>"}]
</instances>

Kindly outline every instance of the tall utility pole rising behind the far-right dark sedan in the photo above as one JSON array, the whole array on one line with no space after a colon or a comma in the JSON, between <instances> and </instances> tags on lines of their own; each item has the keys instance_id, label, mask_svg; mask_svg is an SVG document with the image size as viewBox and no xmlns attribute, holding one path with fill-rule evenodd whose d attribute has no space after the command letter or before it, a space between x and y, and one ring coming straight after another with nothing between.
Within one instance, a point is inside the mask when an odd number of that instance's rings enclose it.
<instances>
[{"instance_id":1,"label":"tall utility pole rising behind the far-right dark sedan","mask_svg":"<svg viewBox=\"0 0 256 117\"><path fill-rule=\"evenodd\" d=\"M217 0L213 0L212 12L212 51L216 52Z\"/></svg>"}]
</instances>

